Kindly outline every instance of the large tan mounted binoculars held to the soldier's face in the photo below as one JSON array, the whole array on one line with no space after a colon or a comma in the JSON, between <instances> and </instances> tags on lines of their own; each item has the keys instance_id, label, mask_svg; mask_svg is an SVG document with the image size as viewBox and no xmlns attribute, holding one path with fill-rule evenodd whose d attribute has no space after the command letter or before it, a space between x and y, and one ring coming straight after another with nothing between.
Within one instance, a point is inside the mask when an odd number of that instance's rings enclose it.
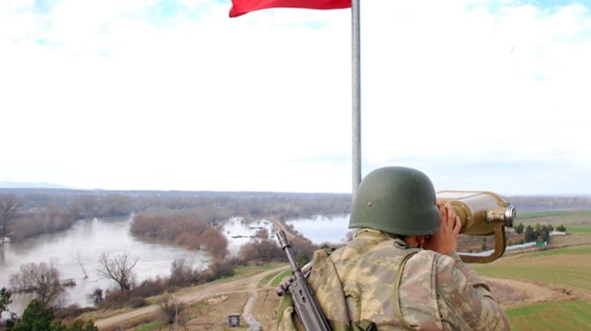
<instances>
[{"instance_id":1,"label":"large tan mounted binoculars held to the soldier's face","mask_svg":"<svg viewBox=\"0 0 591 331\"><path fill-rule=\"evenodd\" d=\"M495 235L495 249L491 254L459 253L462 261L488 263L500 258L507 247L505 227L513 227L516 210L502 196L486 191L440 191L437 200L450 204L462 221L463 235Z\"/></svg>"}]
</instances>

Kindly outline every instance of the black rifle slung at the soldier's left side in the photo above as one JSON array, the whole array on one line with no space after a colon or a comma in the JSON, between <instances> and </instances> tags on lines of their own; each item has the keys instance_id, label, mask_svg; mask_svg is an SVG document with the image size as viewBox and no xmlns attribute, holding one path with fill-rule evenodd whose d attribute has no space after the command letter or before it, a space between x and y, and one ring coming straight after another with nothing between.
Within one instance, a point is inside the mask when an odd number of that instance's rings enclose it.
<instances>
[{"instance_id":1,"label":"black rifle slung at the soldier's left side","mask_svg":"<svg viewBox=\"0 0 591 331\"><path fill-rule=\"evenodd\" d=\"M283 230L277 231L277 239L279 239L281 249L285 251L289 264L291 264L293 277L290 278L286 287L289 294L291 294L291 299L293 299L295 314L306 330L330 331L329 322L326 320L322 309L320 309L316 296L314 296L310 288L310 284L308 284L302 270L298 267L298 263L295 261L295 257L291 251L291 245ZM277 291L279 296L285 294L285 288L282 289L281 291Z\"/></svg>"}]
</instances>

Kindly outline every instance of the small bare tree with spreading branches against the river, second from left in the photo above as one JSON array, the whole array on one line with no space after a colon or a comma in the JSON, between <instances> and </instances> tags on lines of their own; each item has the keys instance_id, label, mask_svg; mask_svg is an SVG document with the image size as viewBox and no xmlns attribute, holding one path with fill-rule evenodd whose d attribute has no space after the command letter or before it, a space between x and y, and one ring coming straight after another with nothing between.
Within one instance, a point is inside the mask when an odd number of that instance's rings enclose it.
<instances>
[{"instance_id":1,"label":"small bare tree with spreading branches against the river, second from left","mask_svg":"<svg viewBox=\"0 0 591 331\"><path fill-rule=\"evenodd\" d=\"M134 276L132 270L137 264L137 258L132 260L127 251L113 257L109 257L106 253L103 253L98 263L99 265L96 269L98 275L115 280L123 292L129 292L132 289Z\"/></svg>"}]
</instances>

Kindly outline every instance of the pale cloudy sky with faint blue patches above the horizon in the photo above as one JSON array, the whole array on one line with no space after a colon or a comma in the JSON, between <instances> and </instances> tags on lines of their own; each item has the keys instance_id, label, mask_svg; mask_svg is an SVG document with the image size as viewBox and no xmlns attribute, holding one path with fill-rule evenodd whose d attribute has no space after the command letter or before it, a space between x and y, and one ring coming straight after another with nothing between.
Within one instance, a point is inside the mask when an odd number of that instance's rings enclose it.
<instances>
[{"instance_id":1,"label":"pale cloudy sky with faint blue patches above the horizon","mask_svg":"<svg viewBox=\"0 0 591 331\"><path fill-rule=\"evenodd\" d=\"M0 1L0 181L351 192L351 11ZM361 4L362 175L591 193L591 1Z\"/></svg>"}]
</instances>

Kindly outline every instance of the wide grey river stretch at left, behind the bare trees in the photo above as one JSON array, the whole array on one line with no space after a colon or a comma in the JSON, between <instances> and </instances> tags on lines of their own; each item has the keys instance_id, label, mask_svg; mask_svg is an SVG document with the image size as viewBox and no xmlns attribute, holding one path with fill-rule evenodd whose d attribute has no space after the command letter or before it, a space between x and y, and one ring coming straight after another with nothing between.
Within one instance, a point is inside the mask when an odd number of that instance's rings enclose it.
<instances>
[{"instance_id":1,"label":"wide grey river stretch at left, behind the bare trees","mask_svg":"<svg viewBox=\"0 0 591 331\"><path fill-rule=\"evenodd\" d=\"M54 263L63 279L75 280L75 287L66 289L68 304L91 306L87 299L97 287L108 289L113 282L96 273L101 254L128 252L136 259L136 280L141 282L151 277L170 275L170 266L176 258L193 261L193 266L207 267L209 256L201 251L189 251L182 247L151 244L136 239L129 232L131 218L110 220L80 220L64 232L42 235L0 247L0 287L10 286L10 275L18 273L25 263ZM80 261L80 263L79 263ZM88 277L84 278L84 270ZM30 298L13 295L11 311L20 313Z\"/></svg>"}]
</instances>

